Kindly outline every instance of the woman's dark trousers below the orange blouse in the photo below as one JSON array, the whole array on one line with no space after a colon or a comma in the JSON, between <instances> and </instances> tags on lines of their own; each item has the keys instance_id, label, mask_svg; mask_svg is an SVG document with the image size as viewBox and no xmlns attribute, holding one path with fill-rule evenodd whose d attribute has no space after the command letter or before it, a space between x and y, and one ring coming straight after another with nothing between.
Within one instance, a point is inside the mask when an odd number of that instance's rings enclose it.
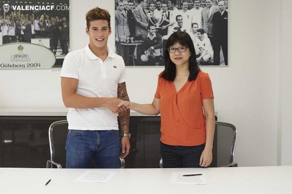
<instances>
[{"instance_id":1,"label":"woman's dark trousers below the orange blouse","mask_svg":"<svg viewBox=\"0 0 292 194\"><path fill-rule=\"evenodd\" d=\"M200 168L200 158L204 148L205 144L174 146L160 142L163 168Z\"/></svg>"}]
</instances>

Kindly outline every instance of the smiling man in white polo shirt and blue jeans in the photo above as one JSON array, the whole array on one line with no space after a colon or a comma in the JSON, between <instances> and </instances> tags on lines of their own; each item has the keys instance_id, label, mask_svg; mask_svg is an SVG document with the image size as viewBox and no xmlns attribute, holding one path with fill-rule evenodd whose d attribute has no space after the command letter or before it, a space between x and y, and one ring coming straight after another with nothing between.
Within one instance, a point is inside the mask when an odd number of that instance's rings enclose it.
<instances>
[{"instance_id":1,"label":"smiling man in white polo shirt and blue jeans","mask_svg":"<svg viewBox=\"0 0 292 194\"><path fill-rule=\"evenodd\" d=\"M119 157L126 157L130 149L129 111L117 106L120 99L129 100L125 64L107 47L111 34L107 10L89 10L86 26L89 44L67 54L60 74L63 102L69 107L66 167L88 168L93 158L96 168L119 168Z\"/></svg>"}]
</instances>

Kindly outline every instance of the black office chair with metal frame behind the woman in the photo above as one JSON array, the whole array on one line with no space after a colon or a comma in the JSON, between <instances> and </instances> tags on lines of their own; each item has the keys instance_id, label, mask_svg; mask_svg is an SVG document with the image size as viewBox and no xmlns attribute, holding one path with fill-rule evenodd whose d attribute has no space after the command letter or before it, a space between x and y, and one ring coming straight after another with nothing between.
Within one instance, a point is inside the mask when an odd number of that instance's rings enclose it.
<instances>
[{"instance_id":1,"label":"black office chair with metal frame behind the woman","mask_svg":"<svg viewBox=\"0 0 292 194\"><path fill-rule=\"evenodd\" d=\"M213 160L209 167L237 167L234 162L236 145L236 128L234 125L223 122L215 122L215 133L213 141ZM160 159L159 167L163 168Z\"/></svg>"}]
</instances>

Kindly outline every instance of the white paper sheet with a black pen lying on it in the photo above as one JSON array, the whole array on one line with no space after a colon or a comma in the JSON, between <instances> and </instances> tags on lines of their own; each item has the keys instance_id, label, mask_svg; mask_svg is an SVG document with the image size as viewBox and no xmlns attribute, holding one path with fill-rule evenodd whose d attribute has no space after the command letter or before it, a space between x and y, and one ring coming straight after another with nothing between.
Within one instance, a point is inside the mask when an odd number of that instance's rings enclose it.
<instances>
[{"instance_id":1,"label":"white paper sheet with a black pen lying on it","mask_svg":"<svg viewBox=\"0 0 292 194\"><path fill-rule=\"evenodd\" d=\"M183 176L187 175L187 176ZM171 178L172 184L206 184L205 175L193 172L173 172Z\"/></svg>"}]
</instances>

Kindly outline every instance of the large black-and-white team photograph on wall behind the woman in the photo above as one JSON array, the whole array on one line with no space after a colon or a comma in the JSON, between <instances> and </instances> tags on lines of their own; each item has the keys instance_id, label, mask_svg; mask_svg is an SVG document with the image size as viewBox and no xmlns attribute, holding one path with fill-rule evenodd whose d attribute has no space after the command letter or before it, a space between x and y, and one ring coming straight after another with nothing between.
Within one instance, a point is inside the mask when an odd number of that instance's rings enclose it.
<instances>
[{"instance_id":1,"label":"large black-and-white team photograph on wall behind the woman","mask_svg":"<svg viewBox=\"0 0 292 194\"><path fill-rule=\"evenodd\" d=\"M116 0L115 46L126 66L164 66L175 31L187 32L200 66L228 66L228 0Z\"/></svg>"}]
</instances>

